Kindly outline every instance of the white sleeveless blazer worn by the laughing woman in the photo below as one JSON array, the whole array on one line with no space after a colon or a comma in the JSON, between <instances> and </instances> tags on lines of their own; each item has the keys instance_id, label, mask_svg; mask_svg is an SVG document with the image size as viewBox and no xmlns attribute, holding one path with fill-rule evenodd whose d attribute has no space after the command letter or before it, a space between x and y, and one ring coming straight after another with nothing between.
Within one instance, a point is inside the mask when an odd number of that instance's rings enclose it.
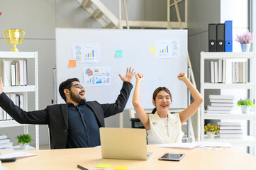
<instances>
[{"instance_id":1,"label":"white sleeveless blazer worn by the laughing woman","mask_svg":"<svg viewBox=\"0 0 256 170\"><path fill-rule=\"evenodd\" d=\"M157 112L149 114L150 130L147 131L148 144L181 143L184 132L182 132L182 123L179 119L179 113L168 113L167 128Z\"/></svg>"}]
</instances>

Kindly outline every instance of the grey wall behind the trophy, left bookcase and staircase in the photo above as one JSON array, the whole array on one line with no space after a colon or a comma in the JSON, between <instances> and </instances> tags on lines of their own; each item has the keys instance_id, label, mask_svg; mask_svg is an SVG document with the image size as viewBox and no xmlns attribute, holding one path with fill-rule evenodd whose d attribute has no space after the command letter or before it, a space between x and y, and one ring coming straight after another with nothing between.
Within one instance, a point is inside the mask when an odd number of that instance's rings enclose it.
<instances>
[{"instance_id":1,"label":"grey wall behind the trophy, left bookcase and staircase","mask_svg":"<svg viewBox=\"0 0 256 170\"><path fill-rule=\"evenodd\" d=\"M118 18L118 1L108 0L102 2ZM146 19L163 21L166 19L166 16L163 16L163 13L166 12L166 4L164 2L165 0L161 0L161 3L158 4L154 3L154 1L126 0L128 18L138 21ZM146 8L151 9L156 5L158 6L157 11L165 12L155 11L150 16L150 11L146 11ZM161 10L162 8L164 10ZM124 19L123 4L121 10L122 18ZM3 12L0 16L0 51L11 50L11 45L7 45L3 36L4 30L10 28L25 30L25 38L21 45L17 45L18 50L21 52L38 51L39 108L44 109L51 104L53 98L52 68L55 68L55 28L101 28L101 25L94 18L89 18L89 13L80 7L75 0L0 1L0 11ZM146 17L146 13L150 18ZM29 69L33 70L33 67ZM30 74L28 79L33 84L33 74ZM33 96L33 93L29 93L28 111L35 109ZM127 111L124 119L125 126L130 127ZM119 116L107 118L106 126L118 127ZM22 127L0 128L0 134L7 134L11 141L14 142L13 145L17 144L15 137L21 133L23 133ZM35 139L34 126L29 127L29 133ZM40 125L40 145L45 144L48 144L48 127Z\"/></svg>"}]
</instances>

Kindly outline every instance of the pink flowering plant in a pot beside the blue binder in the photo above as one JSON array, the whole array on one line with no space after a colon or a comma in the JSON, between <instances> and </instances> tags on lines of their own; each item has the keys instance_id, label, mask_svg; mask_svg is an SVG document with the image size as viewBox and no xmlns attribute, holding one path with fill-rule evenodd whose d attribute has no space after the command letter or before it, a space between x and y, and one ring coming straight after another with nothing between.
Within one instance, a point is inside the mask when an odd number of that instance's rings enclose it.
<instances>
[{"instance_id":1,"label":"pink flowering plant in a pot beside the blue binder","mask_svg":"<svg viewBox=\"0 0 256 170\"><path fill-rule=\"evenodd\" d=\"M252 43L254 37L255 35L253 35L249 32L249 30L247 30L242 35L236 35L235 41L240 42L243 52L248 52L250 51L250 44Z\"/></svg>"}]
</instances>

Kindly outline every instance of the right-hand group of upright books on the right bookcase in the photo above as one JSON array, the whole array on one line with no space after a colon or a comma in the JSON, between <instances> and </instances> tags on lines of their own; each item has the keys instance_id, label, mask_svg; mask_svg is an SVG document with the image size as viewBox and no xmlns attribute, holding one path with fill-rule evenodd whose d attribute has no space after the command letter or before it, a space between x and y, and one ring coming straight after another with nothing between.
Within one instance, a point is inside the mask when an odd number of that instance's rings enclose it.
<instances>
[{"instance_id":1,"label":"right-hand group of upright books on the right bookcase","mask_svg":"<svg viewBox=\"0 0 256 170\"><path fill-rule=\"evenodd\" d=\"M247 83L247 62L232 62L232 83Z\"/></svg>"}]
</instances>

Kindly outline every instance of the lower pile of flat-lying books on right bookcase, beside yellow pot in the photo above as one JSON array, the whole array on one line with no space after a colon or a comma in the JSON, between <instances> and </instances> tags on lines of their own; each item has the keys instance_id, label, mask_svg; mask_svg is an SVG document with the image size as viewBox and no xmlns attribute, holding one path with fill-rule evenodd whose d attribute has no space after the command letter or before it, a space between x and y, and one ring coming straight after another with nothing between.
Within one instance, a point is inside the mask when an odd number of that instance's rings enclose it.
<instances>
[{"instance_id":1,"label":"lower pile of flat-lying books on right bookcase, beside yellow pot","mask_svg":"<svg viewBox=\"0 0 256 170\"><path fill-rule=\"evenodd\" d=\"M242 138L243 130L241 123L238 122L218 122L220 128L219 137L221 138Z\"/></svg>"}]
</instances>

